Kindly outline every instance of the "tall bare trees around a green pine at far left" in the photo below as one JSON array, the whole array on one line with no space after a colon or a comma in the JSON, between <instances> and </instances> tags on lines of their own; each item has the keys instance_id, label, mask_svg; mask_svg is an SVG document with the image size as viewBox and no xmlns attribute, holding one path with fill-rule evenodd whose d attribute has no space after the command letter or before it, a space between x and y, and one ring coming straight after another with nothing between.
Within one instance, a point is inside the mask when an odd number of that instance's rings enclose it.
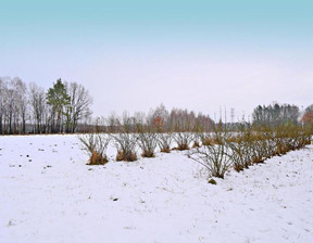
<instances>
[{"instance_id":1,"label":"tall bare trees around a green pine at far left","mask_svg":"<svg viewBox=\"0 0 313 243\"><path fill-rule=\"evenodd\" d=\"M21 78L0 77L0 135L73 133L91 116L92 98L77 82L58 79L45 90Z\"/></svg>"}]
</instances>

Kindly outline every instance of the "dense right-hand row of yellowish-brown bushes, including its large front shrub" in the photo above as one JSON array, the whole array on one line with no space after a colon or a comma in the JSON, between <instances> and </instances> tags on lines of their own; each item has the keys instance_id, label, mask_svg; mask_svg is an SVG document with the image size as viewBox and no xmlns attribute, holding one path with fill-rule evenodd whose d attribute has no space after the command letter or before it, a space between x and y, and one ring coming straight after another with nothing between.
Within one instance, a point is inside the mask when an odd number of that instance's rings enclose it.
<instances>
[{"instance_id":1,"label":"dense right-hand row of yellowish-brown bushes, including its large front shrub","mask_svg":"<svg viewBox=\"0 0 313 243\"><path fill-rule=\"evenodd\" d=\"M296 125L253 127L242 124L229 132L216 125L213 132L202 136L202 146L189 156L203 165L210 176L224 178L228 168L240 171L253 164L299 150L311 143L312 130Z\"/></svg>"}]
</instances>

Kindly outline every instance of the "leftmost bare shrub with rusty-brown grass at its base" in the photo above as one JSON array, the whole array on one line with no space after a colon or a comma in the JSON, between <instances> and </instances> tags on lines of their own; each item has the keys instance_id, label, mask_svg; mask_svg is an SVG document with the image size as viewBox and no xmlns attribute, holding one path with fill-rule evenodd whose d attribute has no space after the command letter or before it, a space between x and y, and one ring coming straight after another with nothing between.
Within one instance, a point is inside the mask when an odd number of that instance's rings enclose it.
<instances>
[{"instance_id":1,"label":"leftmost bare shrub with rusty-brown grass at its base","mask_svg":"<svg viewBox=\"0 0 313 243\"><path fill-rule=\"evenodd\" d=\"M104 165L108 163L107 149L110 138L107 135L89 133L78 136L82 149L87 152L89 157L88 165Z\"/></svg>"}]
</instances>

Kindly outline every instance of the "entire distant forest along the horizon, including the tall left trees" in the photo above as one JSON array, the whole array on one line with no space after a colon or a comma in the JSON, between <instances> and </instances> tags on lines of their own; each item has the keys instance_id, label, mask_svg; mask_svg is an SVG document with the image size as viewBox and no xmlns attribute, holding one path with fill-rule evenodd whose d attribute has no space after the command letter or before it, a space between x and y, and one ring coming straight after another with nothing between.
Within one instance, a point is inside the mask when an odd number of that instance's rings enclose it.
<instances>
[{"instance_id":1,"label":"entire distant forest along the horizon, including the tall left trees","mask_svg":"<svg viewBox=\"0 0 313 243\"><path fill-rule=\"evenodd\" d=\"M214 125L209 115L183 108L167 111L163 104L148 114L137 112L129 116L125 112L122 116L92 118L91 105L88 90L77 82L58 79L45 90L18 77L0 77L0 135L114 132L125 120L134 131L138 124L160 132L210 131ZM259 105L253 111L252 124L313 125L313 105L308 106L304 114L290 104ZM228 125L236 127L236 124Z\"/></svg>"}]
</instances>

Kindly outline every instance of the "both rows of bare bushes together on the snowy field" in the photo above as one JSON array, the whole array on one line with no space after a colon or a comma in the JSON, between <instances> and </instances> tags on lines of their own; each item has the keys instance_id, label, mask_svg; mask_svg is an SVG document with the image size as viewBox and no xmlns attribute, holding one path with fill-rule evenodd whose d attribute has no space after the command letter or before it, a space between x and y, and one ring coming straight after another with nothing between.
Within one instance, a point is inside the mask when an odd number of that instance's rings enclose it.
<instances>
[{"instance_id":1,"label":"both rows of bare bushes together on the snowy field","mask_svg":"<svg viewBox=\"0 0 313 243\"><path fill-rule=\"evenodd\" d=\"M89 133L78 138L90 156L89 165L105 164L108 145L113 142L116 161L136 161L138 148L142 157L154 157L158 149L165 153L189 150L188 156L203 165L211 177L224 178L230 167L240 171L310 144L312 133L312 128L295 125L253 127L242 124L236 131L229 131L220 124L211 132L156 132L138 126L137 132L124 127L115 133Z\"/></svg>"}]
</instances>

